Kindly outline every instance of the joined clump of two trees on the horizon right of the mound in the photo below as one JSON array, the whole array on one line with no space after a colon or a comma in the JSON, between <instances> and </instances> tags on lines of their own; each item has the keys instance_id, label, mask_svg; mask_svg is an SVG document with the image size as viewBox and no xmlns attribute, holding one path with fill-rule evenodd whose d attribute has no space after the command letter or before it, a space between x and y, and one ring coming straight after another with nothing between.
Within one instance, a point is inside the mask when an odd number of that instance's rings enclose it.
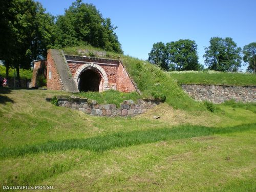
<instances>
[{"instance_id":1,"label":"joined clump of two trees on the horizon right of the mound","mask_svg":"<svg viewBox=\"0 0 256 192\"><path fill-rule=\"evenodd\" d=\"M148 53L148 60L163 70L201 70L198 62L197 44L194 40L180 39L178 41L157 42Z\"/></svg>"}]
</instances>

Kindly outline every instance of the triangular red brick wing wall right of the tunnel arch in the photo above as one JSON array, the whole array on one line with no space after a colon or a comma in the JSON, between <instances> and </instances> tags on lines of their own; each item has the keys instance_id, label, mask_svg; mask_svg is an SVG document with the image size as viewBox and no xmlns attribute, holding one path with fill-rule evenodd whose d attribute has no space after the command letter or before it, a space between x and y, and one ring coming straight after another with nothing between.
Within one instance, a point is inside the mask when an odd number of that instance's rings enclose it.
<instances>
[{"instance_id":1,"label":"triangular red brick wing wall right of the tunnel arch","mask_svg":"<svg viewBox=\"0 0 256 192\"><path fill-rule=\"evenodd\" d=\"M117 83L117 90L120 92L133 92L136 91L136 88L127 74L126 70L124 69L122 63L119 63L116 72L116 83Z\"/></svg>"}]
</instances>

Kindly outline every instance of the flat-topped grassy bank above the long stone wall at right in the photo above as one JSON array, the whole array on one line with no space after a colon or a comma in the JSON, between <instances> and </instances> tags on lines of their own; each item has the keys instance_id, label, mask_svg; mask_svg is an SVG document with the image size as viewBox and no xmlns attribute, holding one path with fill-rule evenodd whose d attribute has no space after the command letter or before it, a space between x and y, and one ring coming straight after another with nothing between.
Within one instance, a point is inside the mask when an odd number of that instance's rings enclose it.
<instances>
[{"instance_id":1,"label":"flat-topped grassy bank above the long stone wall at right","mask_svg":"<svg viewBox=\"0 0 256 192\"><path fill-rule=\"evenodd\" d=\"M256 86L255 74L214 71L168 72L179 84L218 84L228 86Z\"/></svg>"}]
</instances>

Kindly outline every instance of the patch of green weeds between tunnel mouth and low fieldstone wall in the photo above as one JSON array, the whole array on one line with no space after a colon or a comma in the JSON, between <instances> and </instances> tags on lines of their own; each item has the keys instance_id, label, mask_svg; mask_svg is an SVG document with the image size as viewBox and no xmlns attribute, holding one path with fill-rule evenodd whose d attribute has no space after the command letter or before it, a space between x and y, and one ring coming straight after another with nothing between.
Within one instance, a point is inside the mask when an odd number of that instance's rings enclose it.
<instances>
[{"instance_id":1,"label":"patch of green weeds between tunnel mouth and low fieldstone wall","mask_svg":"<svg viewBox=\"0 0 256 192\"><path fill-rule=\"evenodd\" d=\"M96 100L99 104L102 103L114 103L117 107L120 106L124 100L137 101L141 98L141 96L137 92L131 93L122 93L119 91L108 90L102 93L99 92L81 92L77 94L78 96L86 97L89 99L89 102L92 100Z\"/></svg>"}]
</instances>

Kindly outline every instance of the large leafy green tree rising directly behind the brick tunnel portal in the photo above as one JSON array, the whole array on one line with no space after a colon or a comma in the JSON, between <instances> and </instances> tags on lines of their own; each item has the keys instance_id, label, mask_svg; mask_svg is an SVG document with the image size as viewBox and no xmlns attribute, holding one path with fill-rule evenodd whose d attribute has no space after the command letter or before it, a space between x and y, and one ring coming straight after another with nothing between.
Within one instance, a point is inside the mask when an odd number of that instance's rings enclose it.
<instances>
[{"instance_id":1,"label":"large leafy green tree rising directly behind the brick tunnel portal","mask_svg":"<svg viewBox=\"0 0 256 192\"><path fill-rule=\"evenodd\" d=\"M84 4L77 0L64 15L56 21L56 41L58 48L89 44L106 51L122 53L121 44L111 24L110 18L102 18L100 12L92 4Z\"/></svg>"}]
</instances>

